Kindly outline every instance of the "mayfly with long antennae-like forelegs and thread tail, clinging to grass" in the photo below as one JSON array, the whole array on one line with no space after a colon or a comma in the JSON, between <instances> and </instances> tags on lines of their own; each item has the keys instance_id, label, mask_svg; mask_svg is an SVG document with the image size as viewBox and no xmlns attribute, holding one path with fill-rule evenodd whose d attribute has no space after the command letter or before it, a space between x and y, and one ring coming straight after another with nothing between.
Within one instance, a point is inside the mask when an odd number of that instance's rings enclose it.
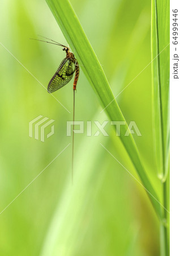
<instances>
[{"instance_id":1,"label":"mayfly with long antennae-like forelegs and thread tail, clinging to grass","mask_svg":"<svg viewBox=\"0 0 180 256\"><path fill-rule=\"evenodd\" d=\"M73 180L73 164L74 164L74 119L75 119L75 90L76 85L79 78L79 64L76 60L74 53L70 52L70 48L67 46L63 46L63 44L60 44L58 42L55 42L52 39L46 38L52 42L44 41L44 40L38 40L41 42L46 42L50 44L56 44L57 46L63 47L62 50L66 52L66 57L61 61L61 64L59 65L57 71L55 72L54 76L50 80L48 84L48 92L53 93L56 90L62 88L65 86L73 77L73 74L75 73L74 78L74 84L73 84L73 125L72 125L72 180Z\"/></svg>"}]
</instances>

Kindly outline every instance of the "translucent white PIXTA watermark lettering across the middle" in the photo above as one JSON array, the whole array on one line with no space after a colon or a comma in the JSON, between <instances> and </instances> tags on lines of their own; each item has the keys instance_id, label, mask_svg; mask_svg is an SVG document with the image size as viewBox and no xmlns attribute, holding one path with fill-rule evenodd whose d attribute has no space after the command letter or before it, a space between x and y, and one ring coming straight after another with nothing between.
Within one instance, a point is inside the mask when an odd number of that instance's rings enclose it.
<instances>
[{"instance_id":1,"label":"translucent white PIXTA watermark lettering across the middle","mask_svg":"<svg viewBox=\"0 0 180 256\"><path fill-rule=\"evenodd\" d=\"M131 121L129 125L127 125L125 121L111 121L111 122L104 121L102 123L98 121L87 121L87 122L75 121L74 125L75 125L74 133L81 133L81 134L86 133L88 137L91 137L91 136L96 137L100 134L104 136L109 136L109 134L105 130L105 127L108 125L115 126L115 131L117 136L129 136L130 134L136 134L138 136L142 136L135 121ZM72 126L73 126L73 121L67 121L66 136L71 136ZM121 134L122 126L124 126L123 128L125 128L123 129L123 131L125 131L125 133L123 134ZM96 130L95 133L92 132L92 127L93 127L93 130Z\"/></svg>"}]
</instances>

